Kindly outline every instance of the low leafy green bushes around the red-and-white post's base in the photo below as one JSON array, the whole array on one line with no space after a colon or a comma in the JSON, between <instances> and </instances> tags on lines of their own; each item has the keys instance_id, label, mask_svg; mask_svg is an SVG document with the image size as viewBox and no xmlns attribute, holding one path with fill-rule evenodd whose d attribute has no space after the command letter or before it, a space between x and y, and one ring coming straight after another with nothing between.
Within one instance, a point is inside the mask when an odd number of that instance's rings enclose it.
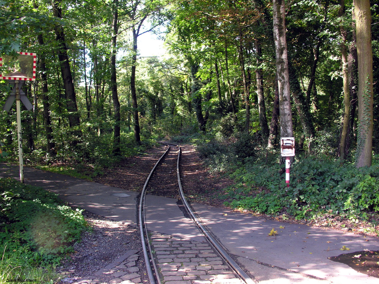
<instances>
[{"instance_id":1,"label":"low leafy green bushes around the red-and-white post's base","mask_svg":"<svg viewBox=\"0 0 379 284\"><path fill-rule=\"evenodd\" d=\"M233 208L271 215L286 211L297 219L321 214L367 219L368 212L379 212L378 158L360 170L326 157L302 159L291 165L288 188L279 165L246 163L232 174L236 184L220 198Z\"/></svg>"}]
</instances>

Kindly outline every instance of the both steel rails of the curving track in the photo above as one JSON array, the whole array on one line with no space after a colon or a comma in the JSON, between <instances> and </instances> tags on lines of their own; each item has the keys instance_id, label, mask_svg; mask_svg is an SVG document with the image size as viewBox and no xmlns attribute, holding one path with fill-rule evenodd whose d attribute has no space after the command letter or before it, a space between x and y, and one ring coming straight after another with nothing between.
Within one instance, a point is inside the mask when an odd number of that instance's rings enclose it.
<instances>
[{"instance_id":1,"label":"both steel rails of the curving track","mask_svg":"<svg viewBox=\"0 0 379 284\"><path fill-rule=\"evenodd\" d=\"M157 276L159 284L160 284L160 279L158 276L157 267L155 265L155 262L154 262L154 259L152 256L152 252L151 252L152 250L150 247L150 243L149 243L149 241L146 242L146 239L145 239L145 234L146 234L147 239L149 238L149 236L148 236L148 232L147 232L146 227L145 227L145 233L144 233L144 223L145 223L144 200L146 197L146 187L147 187L147 184L149 183L150 177L151 177L152 173L154 172L155 168L157 167L157 165L159 164L159 162L163 159L163 157L166 155L166 153L170 150L171 147L168 144L171 144L171 145L175 145L175 147L178 147L178 158L177 158L177 163L176 163L176 172L177 172L177 178L178 178L178 184L179 184L180 198L182 199L183 204L184 204L187 212L189 213L189 215L191 215L194 223L197 225L199 230L204 234L204 237L208 240L208 242L210 242L213 245L213 247L219 252L219 254L224 258L224 260L229 264L229 266L241 277L241 279L243 279L243 281L246 282L246 284L255 284L255 282L246 274L246 272L243 271L243 269L229 256L229 254L227 254L227 252L224 250L224 248L222 248L222 246L215 240L215 238L211 235L211 233L208 231L208 229L206 229L205 226L202 224L202 222L199 220L199 218L197 218L196 214L191 209L191 206L189 206L189 204L185 198L183 189L182 189L182 183L180 181L180 172L179 172L179 160L180 160L180 151L181 151L180 146L176 145L174 143L170 143L170 142L160 142L160 143L168 146L168 148L164 152L164 154L159 158L159 160L155 163L153 169L151 170L149 176L147 177L146 182L145 182L144 187L143 187L142 192L141 192L140 200L139 200L139 231L141 233L142 248L143 248L143 252L144 252L147 274L149 276L150 283L156 284L154 273L153 273L153 270L151 268L152 265L150 264L150 261L152 262L152 264L154 266L155 275ZM147 253L146 243L149 244L150 257Z\"/></svg>"}]
</instances>

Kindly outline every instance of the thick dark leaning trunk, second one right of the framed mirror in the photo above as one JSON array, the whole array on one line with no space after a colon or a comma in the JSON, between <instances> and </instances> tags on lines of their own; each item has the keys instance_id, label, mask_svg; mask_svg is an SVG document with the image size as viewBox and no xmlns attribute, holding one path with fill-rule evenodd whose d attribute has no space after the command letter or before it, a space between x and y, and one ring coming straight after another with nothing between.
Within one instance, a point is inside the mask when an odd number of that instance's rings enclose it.
<instances>
[{"instance_id":1,"label":"thick dark leaning trunk, second one right of the framed mirror","mask_svg":"<svg viewBox=\"0 0 379 284\"><path fill-rule=\"evenodd\" d=\"M53 15L59 19L62 19L61 0L53 0L52 7ZM62 25L56 23L54 26L54 30L56 34L56 41L59 45L57 53L61 67L63 87L66 94L66 107L67 112L69 113L69 125L70 128L75 128L73 134L76 137L74 137L72 144L76 145L79 142L78 138L81 137L82 134L80 130L80 119L78 113L78 106L76 103L75 88L72 80L69 57L67 55L67 46L66 41L64 39L64 31Z\"/></svg>"}]
</instances>

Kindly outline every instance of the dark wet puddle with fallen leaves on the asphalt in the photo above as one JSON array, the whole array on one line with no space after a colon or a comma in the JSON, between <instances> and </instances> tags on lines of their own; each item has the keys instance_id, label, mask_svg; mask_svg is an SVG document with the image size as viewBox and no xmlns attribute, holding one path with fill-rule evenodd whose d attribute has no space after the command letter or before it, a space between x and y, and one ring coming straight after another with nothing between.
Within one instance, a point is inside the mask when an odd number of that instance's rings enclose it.
<instances>
[{"instance_id":1,"label":"dark wet puddle with fallen leaves on the asphalt","mask_svg":"<svg viewBox=\"0 0 379 284\"><path fill-rule=\"evenodd\" d=\"M331 261L349 265L360 273L379 278L379 251L356 251L328 257Z\"/></svg>"}]
</instances>

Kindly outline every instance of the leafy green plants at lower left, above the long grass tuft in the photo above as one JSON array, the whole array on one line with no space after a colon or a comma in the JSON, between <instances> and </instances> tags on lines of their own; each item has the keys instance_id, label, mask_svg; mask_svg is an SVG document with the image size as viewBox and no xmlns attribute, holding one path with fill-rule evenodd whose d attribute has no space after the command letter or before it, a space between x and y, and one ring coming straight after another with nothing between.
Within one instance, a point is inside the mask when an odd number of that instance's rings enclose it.
<instances>
[{"instance_id":1,"label":"leafy green plants at lower left, above the long grass tuft","mask_svg":"<svg viewBox=\"0 0 379 284\"><path fill-rule=\"evenodd\" d=\"M31 263L57 263L87 226L83 210L73 211L40 187L8 178L0 181L0 192L0 243L5 253L21 250Z\"/></svg>"}]
</instances>

